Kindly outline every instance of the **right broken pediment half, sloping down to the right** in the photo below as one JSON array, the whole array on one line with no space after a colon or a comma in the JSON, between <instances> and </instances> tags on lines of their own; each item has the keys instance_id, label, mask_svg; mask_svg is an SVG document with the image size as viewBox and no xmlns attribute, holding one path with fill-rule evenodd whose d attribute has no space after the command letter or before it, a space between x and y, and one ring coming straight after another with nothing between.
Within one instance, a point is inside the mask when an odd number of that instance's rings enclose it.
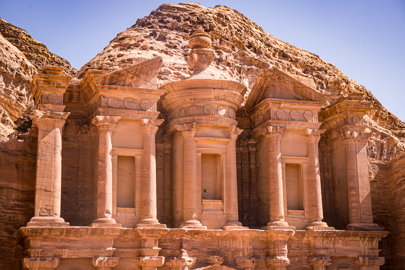
<instances>
[{"instance_id":1,"label":"right broken pediment half, sloping down to the right","mask_svg":"<svg viewBox=\"0 0 405 270\"><path fill-rule=\"evenodd\" d=\"M252 109L265 99L302 100L326 103L328 97L318 93L292 76L271 68L259 73L245 108Z\"/></svg>"}]
</instances>

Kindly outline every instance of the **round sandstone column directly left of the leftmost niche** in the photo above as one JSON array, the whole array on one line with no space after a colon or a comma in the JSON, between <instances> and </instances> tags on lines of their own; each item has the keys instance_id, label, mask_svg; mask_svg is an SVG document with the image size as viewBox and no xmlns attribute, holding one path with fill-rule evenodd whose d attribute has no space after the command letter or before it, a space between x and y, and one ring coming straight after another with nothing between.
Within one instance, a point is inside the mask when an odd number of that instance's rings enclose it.
<instances>
[{"instance_id":1,"label":"round sandstone column directly left of the leftmost niche","mask_svg":"<svg viewBox=\"0 0 405 270\"><path fill-rule=\"evenodd\" d=\"M91 226L120 227L112 216L112 130L120 117L96 116L93 125L98 129L98 164L97 164L97 218Z\"/></svg>"}]
</instances>

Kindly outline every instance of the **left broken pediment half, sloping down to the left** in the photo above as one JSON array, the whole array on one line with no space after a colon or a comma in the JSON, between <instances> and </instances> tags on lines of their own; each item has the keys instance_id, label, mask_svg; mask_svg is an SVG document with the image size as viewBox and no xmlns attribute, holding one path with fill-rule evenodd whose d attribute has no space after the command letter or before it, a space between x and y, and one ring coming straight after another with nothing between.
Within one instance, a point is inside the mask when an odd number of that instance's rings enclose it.
<instances>
[{"instance_id":1,"label":"left broken pediment half, sloping down to the left","mask_svg":"<svg viewBox=\"0 0 405 270\"><path fill-rule=\"evenodd\" d=\"M99 76L93 82L98 85L156 88L156 76L162 64L162 58L155 57Z\"/></svg>"}]
</instances>

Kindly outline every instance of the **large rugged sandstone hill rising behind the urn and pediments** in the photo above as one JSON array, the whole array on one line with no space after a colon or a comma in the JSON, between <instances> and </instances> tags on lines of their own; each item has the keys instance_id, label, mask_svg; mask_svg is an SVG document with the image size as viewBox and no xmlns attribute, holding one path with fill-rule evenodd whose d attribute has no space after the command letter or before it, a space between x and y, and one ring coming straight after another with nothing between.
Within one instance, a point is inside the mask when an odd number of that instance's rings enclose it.
<instances>
[{"instance_id":1,"label":"large rugged sandstone hill rising behind the urn and pediments","mask_svg":"<svg viewBox=\"0 0 405 270\"><path fill-rule=\"evenodd\" d=\"M369 157L389 160L405 149L405 125L365 87L347 78L331 63L266 33L241 13L224 6L206 8L196 3L164 4L120 32L94 59L79 70L122 68L141 59L161 56L160 85L189 76L184 56L190 30L201 25L212 35L216 59L209 68L217 78L244 83L252 89L262 69L276 67L320 93L334 98L349 92L366 93L372 103L368 124L375 135ZM249 91L246 94L249 95Z\"/></svg>"}]
</instances>

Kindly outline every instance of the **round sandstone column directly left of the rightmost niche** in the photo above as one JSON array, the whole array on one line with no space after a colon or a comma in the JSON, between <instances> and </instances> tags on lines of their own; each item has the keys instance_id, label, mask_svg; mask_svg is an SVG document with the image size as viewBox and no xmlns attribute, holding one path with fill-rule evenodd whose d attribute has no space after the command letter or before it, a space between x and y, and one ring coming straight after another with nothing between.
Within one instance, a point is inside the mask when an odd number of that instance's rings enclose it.
<instances>
[{"instance_id":1,"label":"round sandstone column directly left of the rightmost niche","mask_svg":"<svg viewBox=\"0 0 405 270\"><path fill-rule=\"evenodd\" d=\"M267 226L288 226L284 220L280 140L287 128L266 127L262 134L269 146L270 222Z\"/></svg>"}]
</instances>

